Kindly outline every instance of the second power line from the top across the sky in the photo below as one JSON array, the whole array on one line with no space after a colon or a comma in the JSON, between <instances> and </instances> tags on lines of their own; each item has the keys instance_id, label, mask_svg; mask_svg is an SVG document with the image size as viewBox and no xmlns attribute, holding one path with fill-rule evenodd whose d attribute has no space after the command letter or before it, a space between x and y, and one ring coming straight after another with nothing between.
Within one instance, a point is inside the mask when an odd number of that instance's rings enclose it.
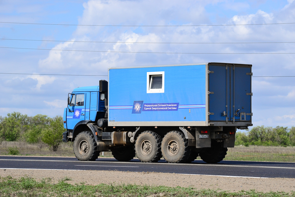
<instances>
[{"instance_id":1,"label":"second power line from the top across the sky","mask_svg":"<svg viewBox=\"0 0 295 197\"><path fill-rule=\"evenodd\" d=\"M165 42L105 42L105 41L71 41L71 40L27 40L27 39L8 39L0 40L24 40L24 41L46 41L46 42L81 42L81 43L143 43L143 44L264 44L264 43L295 43L295 42L248 42L248 43L165 43Z\"/></svg>"}]
</instances>

